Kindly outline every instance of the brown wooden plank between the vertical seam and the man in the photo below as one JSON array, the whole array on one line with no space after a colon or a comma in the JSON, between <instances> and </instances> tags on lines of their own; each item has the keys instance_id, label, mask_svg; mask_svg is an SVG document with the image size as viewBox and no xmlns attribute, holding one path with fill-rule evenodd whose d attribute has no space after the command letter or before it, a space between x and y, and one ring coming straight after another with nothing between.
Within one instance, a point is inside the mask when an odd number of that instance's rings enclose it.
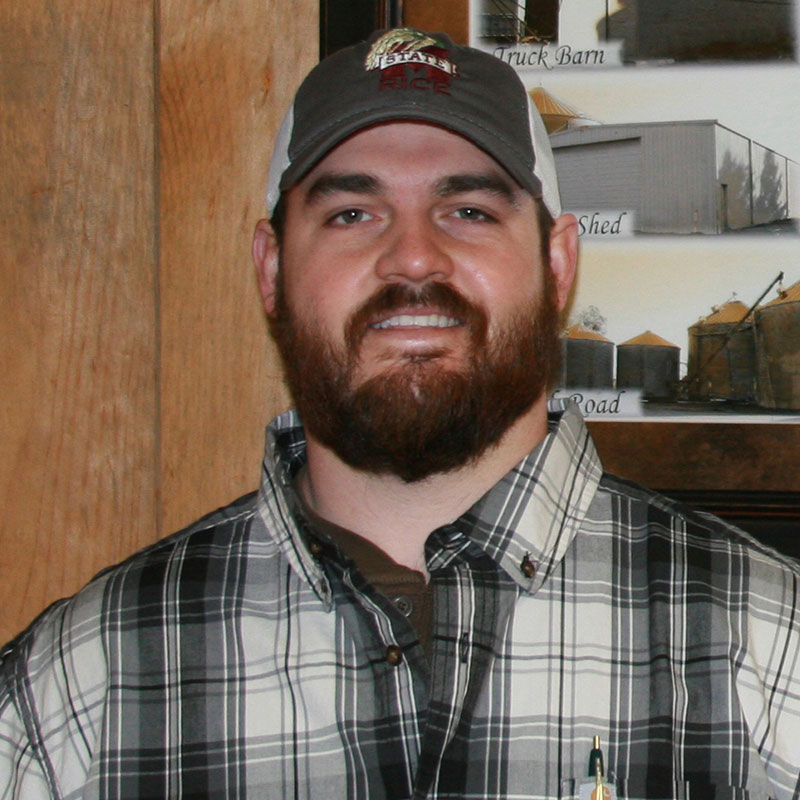
<instances>
[{"instance_id":1,"label":"brown wooden plank between the vertical seam and the man","mask_svg":"<svg viewBox=\"0 0 800 800\"><path fill-rule=\"evenodd\" d=\"M250 260L272 137L318 53L317 0L162 0L163 527L255 488L286 407Z\"/></svg>"}]
</instances>

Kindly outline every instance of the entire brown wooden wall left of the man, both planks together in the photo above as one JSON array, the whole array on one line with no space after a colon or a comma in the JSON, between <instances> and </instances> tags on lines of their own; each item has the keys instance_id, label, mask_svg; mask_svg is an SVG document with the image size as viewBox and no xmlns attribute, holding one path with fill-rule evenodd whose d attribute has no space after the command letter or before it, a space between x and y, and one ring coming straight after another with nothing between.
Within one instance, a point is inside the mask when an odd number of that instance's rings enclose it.
<instances>
[{"instance_id":1,"label":"entire brown wooden wall left of the man, both planks together","mask_svg":"<svg viewBox=\"0 0 800 800\"><path fill-rule=\"evenodd\" d=\"M309 0L0 8L0 640L257 485L249 242L317 36Z\"/></svg>"}]
</instances>

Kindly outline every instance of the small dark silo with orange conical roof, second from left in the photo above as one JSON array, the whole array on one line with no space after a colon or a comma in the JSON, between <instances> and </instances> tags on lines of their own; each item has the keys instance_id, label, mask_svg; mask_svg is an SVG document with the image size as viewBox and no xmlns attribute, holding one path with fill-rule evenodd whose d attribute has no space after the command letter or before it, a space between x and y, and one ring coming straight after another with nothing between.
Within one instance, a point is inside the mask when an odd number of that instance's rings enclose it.
<instances>
[{"instance_id":1,"label":"small dark silo with orange conical roof, second from left","mask_svg":"<svg viewBox=\"0 0 800 800\"><path fill-rule=\"evenodd\" d=\"M617 346L617 388L642 389L650 400L678 395L681 350L651 331Z\"/></svg>"}]
</instances>

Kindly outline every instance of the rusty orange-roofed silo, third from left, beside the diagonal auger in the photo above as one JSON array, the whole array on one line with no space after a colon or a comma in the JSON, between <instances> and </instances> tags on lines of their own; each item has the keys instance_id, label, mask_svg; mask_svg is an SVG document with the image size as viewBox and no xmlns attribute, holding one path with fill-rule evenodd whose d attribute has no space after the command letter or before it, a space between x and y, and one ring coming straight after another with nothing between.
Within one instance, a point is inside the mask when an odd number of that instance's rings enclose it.
<instances>
[{"instance_id":1,"label":"rusty orange-roofed silo, third from left, beside the diagonal auger","mask_svg":"<svg viewBox=\"0 0 800 800\"><path fill-rule=\"evenodd\" d=\"M753 320L744 303L725 303L689 328L686 386L690 400L756 401Z\"/></svg>"}]
</instances>

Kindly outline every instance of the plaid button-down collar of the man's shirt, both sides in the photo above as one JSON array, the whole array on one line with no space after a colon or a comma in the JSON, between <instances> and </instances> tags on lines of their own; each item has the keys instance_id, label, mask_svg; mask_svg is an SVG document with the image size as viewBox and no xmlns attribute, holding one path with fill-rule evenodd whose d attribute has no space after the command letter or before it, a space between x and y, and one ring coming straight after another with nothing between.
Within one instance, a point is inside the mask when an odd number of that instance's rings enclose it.
<instances>
[{"instance_id":1,"label":"plaid button-down collar of the man's shirt, both sides","mask_svg":"<svg viewBox=\"0 0 800 800\"><path fill-rule=\"evenodd\" d=\"M564 557L602 475L574 403L551 400L548 423L545 439L440 537L452 554L461 549L458 534L466 534L471 546L483 550L528 592L537 591ZM305 460L303 427L297 414L287 411L267 429L259 514L294 569L330 605L328 580L298 527L293 478ZM435 550L434 561L443 556Z\"/></svg>"}]
</instances>

